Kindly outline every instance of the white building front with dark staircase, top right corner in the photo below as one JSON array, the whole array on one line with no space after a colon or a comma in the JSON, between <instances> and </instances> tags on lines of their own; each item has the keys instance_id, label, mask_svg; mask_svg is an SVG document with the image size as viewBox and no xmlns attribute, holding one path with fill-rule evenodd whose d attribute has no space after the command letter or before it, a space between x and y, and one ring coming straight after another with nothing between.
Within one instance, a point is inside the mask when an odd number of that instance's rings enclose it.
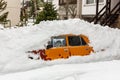
<instances>
[{"instance_id":1,"label":"white building front with dark staircase, top right corner","mask_svg":"<svg viewBox=\"0 0 120 80\"><path fill-rule=\"evenodd\" d=\"M82 3L84 19L95 24L120 28L120 0L82 0Z\"/></svg>"}]
</instances>

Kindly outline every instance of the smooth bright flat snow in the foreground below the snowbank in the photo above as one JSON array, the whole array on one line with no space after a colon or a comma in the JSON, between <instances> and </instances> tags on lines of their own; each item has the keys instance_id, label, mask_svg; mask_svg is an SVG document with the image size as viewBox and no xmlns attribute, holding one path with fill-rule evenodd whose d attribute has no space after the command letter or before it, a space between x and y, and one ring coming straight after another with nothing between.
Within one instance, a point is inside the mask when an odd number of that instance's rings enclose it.
<instances>
[{"instance_id":1,"label":"smooth bright flat snow in the foreground below the snowbank","mask_svg":"<svg viewBox=\"0 0 120 80\"><path fill-rule=\"evenodd\" d=\"M120 61L63 64L1 75L1 80L120 80Z\"/></svg>"}]
</instances>

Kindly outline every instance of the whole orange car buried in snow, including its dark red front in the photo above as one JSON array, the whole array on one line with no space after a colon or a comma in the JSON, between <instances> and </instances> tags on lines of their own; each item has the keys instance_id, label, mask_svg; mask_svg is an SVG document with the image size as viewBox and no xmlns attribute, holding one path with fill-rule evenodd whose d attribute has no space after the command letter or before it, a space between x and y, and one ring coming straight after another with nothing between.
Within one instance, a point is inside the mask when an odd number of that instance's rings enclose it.
<instances>
[{"instance_id":1,"label":"whole orange car buried in snow, including its dark red front","mask_svg":"<svg viewBox=\"0 0 120 80\"><path fill-rule=\"evenodd\" d=\"M70 56L85 56L93 52L93 47L88 45L89 40L85 35L59 35L51 37L46 49L34 50L44 60L69 58Z\"/></svg>"}]
</instances>

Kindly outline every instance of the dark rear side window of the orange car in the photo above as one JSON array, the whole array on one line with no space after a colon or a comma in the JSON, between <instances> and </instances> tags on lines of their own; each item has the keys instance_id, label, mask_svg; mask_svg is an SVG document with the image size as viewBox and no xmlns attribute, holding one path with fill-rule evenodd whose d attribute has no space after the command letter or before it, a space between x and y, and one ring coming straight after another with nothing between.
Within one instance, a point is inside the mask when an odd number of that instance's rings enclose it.
<instances>
[{"instance_id":1,"label":"dark rear side window of the orange car","mask_svg":"<svg viewBox=\"0 0 120 80\"><path fill-rule=\"evenodd\" d=\"M86 45L86 42L80 36L69 36L68 40L70 46Z\"/></svg>"}]
</instances>

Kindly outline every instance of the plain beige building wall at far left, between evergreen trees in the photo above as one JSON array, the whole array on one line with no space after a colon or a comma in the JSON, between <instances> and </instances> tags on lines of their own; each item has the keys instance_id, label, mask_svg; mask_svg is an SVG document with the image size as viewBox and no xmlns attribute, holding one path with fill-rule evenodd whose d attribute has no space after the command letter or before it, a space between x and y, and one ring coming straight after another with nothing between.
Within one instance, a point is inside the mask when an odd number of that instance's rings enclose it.
<instances>
[{"instance_id":1,"label":"plain beige building wall at far left, between evergreen trees","mask_svg":"<svg viewBox=\"0 0 120 80\"><path fill-rule=\"evenodd\" d=\"M7 8L4 12L8 11L8 19L11 20L11 26L15 26L20 21L20 0L5 0L7 2Z\"/></svg>"}]
</instances>

